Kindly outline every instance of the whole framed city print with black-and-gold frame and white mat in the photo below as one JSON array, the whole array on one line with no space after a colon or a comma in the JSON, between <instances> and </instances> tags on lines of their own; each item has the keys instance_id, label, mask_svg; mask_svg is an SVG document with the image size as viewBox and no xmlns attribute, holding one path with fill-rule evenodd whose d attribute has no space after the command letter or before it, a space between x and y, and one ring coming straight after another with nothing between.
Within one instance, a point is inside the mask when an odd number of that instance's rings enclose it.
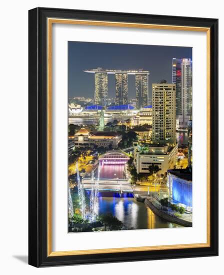
<instances>
[{"instance_id":1,"label":"whole framed city print with black-and-gold frame and white mat","mask_svg":"<svg viewBox=\"0 0 224 275\"><path fill-rule=\"evenodd\" d=\"M29 10L29 264L217 255L217 25Z\"/></svg>"}]
</instances>

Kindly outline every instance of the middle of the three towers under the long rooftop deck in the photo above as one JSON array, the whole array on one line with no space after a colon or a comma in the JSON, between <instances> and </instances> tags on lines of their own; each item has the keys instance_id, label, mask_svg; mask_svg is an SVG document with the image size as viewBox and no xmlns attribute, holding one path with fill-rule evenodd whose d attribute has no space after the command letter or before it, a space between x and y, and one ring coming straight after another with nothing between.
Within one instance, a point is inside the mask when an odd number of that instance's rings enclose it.
<instances>
[{"instance_id":1,"label":"middle of the three towers under the long rooftop deck","mask_svg":"<svg viewBox=\"0 0 224 275\"><path fill-rule=\"evenodd\" d=\"M127 94L128 94L128 78L127 73L115 73L115 83L116 83L116 105L127 104Z\"/></svg>"}]
</instances>

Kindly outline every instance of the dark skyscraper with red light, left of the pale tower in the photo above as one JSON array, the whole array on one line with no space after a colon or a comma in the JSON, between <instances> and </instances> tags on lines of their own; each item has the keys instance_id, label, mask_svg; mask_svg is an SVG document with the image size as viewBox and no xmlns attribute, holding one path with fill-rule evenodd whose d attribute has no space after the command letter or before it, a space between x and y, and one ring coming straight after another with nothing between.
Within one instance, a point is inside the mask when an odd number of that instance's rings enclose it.
<instances>
[{"instance_id":1,"label":"dark skyscraper with red light, left of the pale tower","mask_svg":"<svg viewBox=\"0 0 224 275\"><path fill-rule=\"evenodd\" d=\"M176 84L176 116L182 114L181 59L172 58L172 83Z\"/></svg>"}]
</instances>

